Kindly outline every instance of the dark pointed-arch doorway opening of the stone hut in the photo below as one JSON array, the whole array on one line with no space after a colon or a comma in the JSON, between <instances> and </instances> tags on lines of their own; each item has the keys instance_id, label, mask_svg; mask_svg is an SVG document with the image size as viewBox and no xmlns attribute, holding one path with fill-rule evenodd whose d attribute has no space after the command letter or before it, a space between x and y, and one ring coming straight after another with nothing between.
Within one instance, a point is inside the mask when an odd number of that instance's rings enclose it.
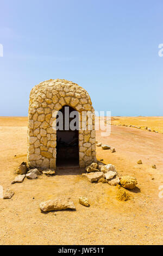
<instances>
[{"instance_id":1,"label":"dark pointed-arch doorway opening of the stone hut","mask_svg":"<svg viewBox=\"0 0 163 256\"><path fill-rule=\"evenodd\" d=\"M57 167L79 166L79 113L67 105L60 109L60 113L62 124L57 123Z\"/></svg>"}]
</instances>

